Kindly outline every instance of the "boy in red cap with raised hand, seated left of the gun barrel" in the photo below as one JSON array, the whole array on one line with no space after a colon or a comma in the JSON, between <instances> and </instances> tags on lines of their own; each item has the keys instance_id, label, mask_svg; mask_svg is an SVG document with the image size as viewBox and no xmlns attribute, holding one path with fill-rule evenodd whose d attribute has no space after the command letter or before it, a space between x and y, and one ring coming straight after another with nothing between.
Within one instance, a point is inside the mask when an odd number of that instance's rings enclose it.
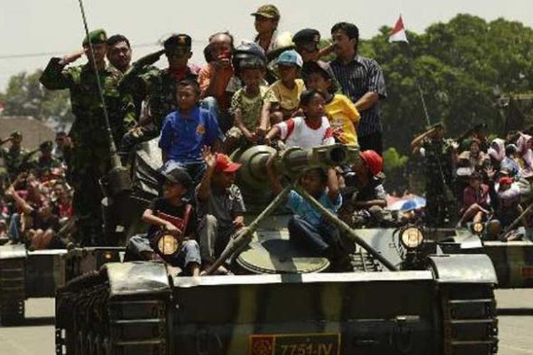
<instances>
[{"instance_id":1,"label":"boy in red cap with raised hand, seated left of the gun barrel","mask_svg":"<svg viewBox=\"0 0 533 355\"><path fill-rule=\"evenodd\" d=\"M246 207L235 185L235 174L241 165L225 154L211 153L210 148L204 148L203 158L207 168L195 196L200 218L200 255L203 265L208 267L224 251L230 236L244 226ZM219 271L227 273L223 266Z\"/></svg>"}]
</instances>

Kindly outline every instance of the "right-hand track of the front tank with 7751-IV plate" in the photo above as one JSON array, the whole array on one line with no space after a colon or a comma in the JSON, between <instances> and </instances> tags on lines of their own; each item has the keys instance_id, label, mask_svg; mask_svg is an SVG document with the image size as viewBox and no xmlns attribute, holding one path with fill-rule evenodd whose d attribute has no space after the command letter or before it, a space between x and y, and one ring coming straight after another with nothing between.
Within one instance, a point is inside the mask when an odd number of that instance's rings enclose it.
<instances>
[{"instance_id":1,"label":"right-hand track of the front tank with 7751-IV plate","mask_svg":"<svg viewBox=\"0 0 533 355\"><path fill-rule=\"evenodd\" d=\"M444 355L497 353L494 288L487 284L441 284Z\"/></svg>"}]
</instances>

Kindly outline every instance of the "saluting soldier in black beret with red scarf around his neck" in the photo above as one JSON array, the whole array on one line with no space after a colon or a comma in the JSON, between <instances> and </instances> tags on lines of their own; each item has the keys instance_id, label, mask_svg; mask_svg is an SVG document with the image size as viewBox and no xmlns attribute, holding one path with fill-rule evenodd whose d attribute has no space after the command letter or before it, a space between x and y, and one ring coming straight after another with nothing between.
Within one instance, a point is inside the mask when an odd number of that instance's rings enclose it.
<instances>
[{"instance_id":1,"label":"saluting soldier in black beret with red scarf around his neck","mask_svg":"<svg viewBox=\"0 0 533 355\"><path fill-rule=\"evenodd\" d=\"M139 126L124 137L123 150L134 143L158 136L165 117L176 111L176 85L184 79L197 80L198 67L188 65L193 55L189 35L171 35L163 43L163 50L146 55L134 62L124 73L119 89L123 94L143 97L146 113L141 113ZM160 70L152 66L165 53L168 67Z\"/></svg>"}]
</instances>

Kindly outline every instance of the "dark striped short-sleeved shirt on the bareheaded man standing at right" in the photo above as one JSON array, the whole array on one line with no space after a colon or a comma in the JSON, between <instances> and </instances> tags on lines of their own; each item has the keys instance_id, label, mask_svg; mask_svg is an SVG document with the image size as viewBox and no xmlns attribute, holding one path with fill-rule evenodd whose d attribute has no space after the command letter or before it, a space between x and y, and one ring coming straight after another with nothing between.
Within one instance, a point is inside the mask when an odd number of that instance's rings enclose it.
<instances>
[{"instance_id":1,"label":"dark striped short-sleeved shirt on the bareheaded man standing at right","mask_svg":"<svg viewBox=\"0 0 533 355\"><path fill-rule=\"evenodd\" d=\"M353 103L367 92L377 93L379 99L387 97L383 72L375 60L355 55L348 64L335 59L330 62L330 66L343 89L343 94L350 97ZM370 109L360 111L360 114L357 136L368 136L381 131L377 104Z\"/></svg>"}]
</instances>

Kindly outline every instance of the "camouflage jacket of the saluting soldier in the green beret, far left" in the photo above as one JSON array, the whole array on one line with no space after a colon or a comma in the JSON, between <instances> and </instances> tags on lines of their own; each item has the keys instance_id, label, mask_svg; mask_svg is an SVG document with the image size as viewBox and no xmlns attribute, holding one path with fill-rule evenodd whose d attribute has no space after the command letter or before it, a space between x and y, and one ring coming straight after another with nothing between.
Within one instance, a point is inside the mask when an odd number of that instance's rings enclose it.
<instances>
[{"instance_id":1,"label":"camouflage jacket of the saluting soldier in the green beret, far left","mask_svg":"<svg viewBox=\"0 0 533 355\"><path fill-rule=\"evenodd\" d=\"M128 95L119 94L122 73L109 66L99 70L100 84L109 116L113 138L118 144L126 131L135 126L135 107ZM70 136L77 144L107 146L103 104L99 97L96 75L90 65L64 69L60 58L52 58L41 75L41 84L47 89L70 89L70 102L75 121Z\"/></svg>"}]
</instances>

